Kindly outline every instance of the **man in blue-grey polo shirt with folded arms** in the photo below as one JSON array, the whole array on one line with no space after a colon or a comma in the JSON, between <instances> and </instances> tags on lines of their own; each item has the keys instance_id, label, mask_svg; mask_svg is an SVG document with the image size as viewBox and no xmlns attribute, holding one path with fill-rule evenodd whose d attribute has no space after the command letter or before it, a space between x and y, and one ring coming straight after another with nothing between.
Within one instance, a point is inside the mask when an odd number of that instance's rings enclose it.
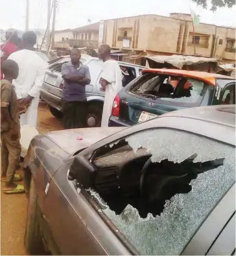
<instances>
[{"instance_id":1,"label":"man in blue-grey polo shirt with folded arms","mask_svg":"<svg viewBox=\"0 0 236 256\"><path fill-rule=\"evenodd\" d=\"M62 65L62 110L65 129L86 126L85 86L91 79L89 68L80 62L80 57L80 51L74 48L71 50L71 61Z\"/></svg>"}]
</instances>

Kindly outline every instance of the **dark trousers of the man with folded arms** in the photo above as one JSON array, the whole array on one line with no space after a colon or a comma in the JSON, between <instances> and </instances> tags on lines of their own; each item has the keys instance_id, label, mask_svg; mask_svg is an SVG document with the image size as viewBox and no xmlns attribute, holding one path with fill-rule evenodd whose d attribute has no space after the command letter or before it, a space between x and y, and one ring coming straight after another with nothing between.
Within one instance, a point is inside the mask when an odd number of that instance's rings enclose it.
<instances>
[{"instance_id":1,"label":"dark trousers of the man with folded arms","mask_svg":"<svg viewBox=\"0 0 236 256\"><path fill-rule=\"evenodd\" d=\"M86 127L86 101L62 101L65 129Z\"/></svg>"}]
</instances>

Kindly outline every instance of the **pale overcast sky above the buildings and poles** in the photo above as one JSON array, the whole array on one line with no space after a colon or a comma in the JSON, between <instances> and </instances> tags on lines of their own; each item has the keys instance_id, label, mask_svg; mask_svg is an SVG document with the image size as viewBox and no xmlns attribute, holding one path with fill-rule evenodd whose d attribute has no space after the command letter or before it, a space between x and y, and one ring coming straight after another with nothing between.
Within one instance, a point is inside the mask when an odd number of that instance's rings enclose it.
<instances>
[{"instance_id":1,"label":"pale overcast sky above the buildings and poles","mask_svg":"<svg viewBox=\"0 0 236 256\"><path fill-rule=\"evenodd\" d=\"M30 29L46 29L47 0L30 1ZM52 0L51 0L52 1ZM1 29L25 29L27 0L0 0ZM56 30L74 29L101 19L157 14L169 16L171 12L190 13L190 7L200 15L200 22L226 27L235 27L236 19L233 8L218 8L212 12L197 6L191 0L58 0Z\"/></svg>"}]
</instances>

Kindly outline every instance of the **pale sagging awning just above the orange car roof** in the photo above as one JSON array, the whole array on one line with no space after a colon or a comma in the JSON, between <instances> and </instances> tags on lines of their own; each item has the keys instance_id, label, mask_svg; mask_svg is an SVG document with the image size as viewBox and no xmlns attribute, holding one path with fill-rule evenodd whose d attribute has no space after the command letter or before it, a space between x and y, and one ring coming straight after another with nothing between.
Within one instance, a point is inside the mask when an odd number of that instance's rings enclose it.
<instances>
[{"instance_id":1,"label":"pale sagging awning just above the orange car roof","mask_svg":"<svg viewBox=\"0 0 236 256\"><path fill-rule=\"evenodd\" d=\"M193 57L193 56L183 56L183 55L171 55L171 56L145 56L145 58L153 60L161 64L171 64L172 66L179 68L180 70L183 66L189 66L193 64L202 64L209 62L217 62L215 58L205 58L205 57Z\"/></svg>"}]
</instances>

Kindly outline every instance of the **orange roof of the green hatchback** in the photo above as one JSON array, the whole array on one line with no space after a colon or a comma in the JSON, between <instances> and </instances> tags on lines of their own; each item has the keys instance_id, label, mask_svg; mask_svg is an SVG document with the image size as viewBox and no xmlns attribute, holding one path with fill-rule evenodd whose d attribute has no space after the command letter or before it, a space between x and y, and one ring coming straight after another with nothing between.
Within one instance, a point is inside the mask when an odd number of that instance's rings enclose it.
<instances>
[{"instance_id":1,"label":"orange roof of the green hatchback","mask_svg":"<svg viewBox=\"0 0 236 256\"><path fill-rule=\"evenodd\" d=\"M157 73L163 75L178 75L181 77L189 77L202 80L208 84L214 85L216 84L216 79L230 79L234 80L233 77L228 77L227 75L220 75L217 73L207 73L202 71L189 71L189 70L171 70L167 68L162 69L145 69L143 73Z\"/></svg>"}]
</instances>

